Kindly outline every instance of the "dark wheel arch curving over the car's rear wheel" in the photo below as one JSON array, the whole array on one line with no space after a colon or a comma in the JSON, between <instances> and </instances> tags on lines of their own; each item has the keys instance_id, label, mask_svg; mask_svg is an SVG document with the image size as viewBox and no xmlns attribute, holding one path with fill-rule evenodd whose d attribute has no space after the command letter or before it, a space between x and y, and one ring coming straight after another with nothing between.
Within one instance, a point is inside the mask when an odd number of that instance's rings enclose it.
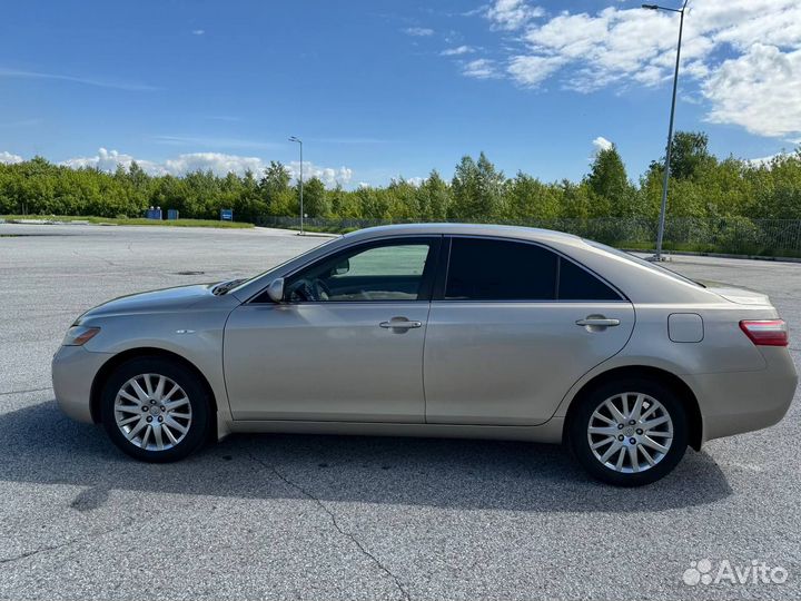
<instances>
[{"instance_id":1,"label":"dark wheel arch curving over the car's rear wheel","mask_svg":"<svg viewBox=\"0 0 801 601\"><path fill-rule=\"evenodd\" d=\"M567 413L565 415L565 424L570 424L576 407L581 403L582 398L589 394L595 387L605 384L607 382L614 382L624 377L645 377L649 380L655 380L660 384L668 386L684 404L684 408L688 414L688 441L690 446L694 450L701 449L703 440L703 416L699 406L698 397L693 390L678 375L662 370L660 367L653 367L650 365L626 365L622 367L614 367L607 370L592 377L582 385L582 387L573 395L573 398L567 406ZM563 430L563 439L567 435L567 428Z\"/></svg>"}]
</instances>

